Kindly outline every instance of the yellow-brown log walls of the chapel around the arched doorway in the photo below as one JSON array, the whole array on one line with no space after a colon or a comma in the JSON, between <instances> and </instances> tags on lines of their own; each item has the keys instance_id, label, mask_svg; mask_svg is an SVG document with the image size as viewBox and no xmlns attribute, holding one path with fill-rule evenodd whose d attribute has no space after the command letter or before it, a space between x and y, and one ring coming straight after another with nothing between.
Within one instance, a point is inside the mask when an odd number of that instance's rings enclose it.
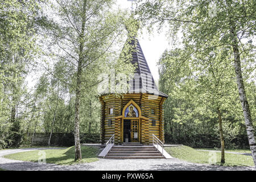
<instances>
[{"instance_id":1,"label":"yellow-brown log walls of the chapel around the arched doorway","mask_svg":"<svg viewBox=\"0 0 256 182\"><path fill-rule=\"evenodd\" d=\"M141 115L143 118L138 118L140 142L145 144L152 143L152 134L155 134L156 137L164 142L163 102L165 99L147 93L123 94L121 98L115 97L113 94L101 96L102 143L108 142L113 134L115 134L115 143L122 143L122 110L125 109L125 105L131 100L142 111ZM113 107L113 114L109 114L109 107ZM151 114L151 109L155 110L155 114ZM112 119L112 125L109 125L109 119ZM152 125L153 121L155 121L155 126Z\"/></svg>"}]
</instances>

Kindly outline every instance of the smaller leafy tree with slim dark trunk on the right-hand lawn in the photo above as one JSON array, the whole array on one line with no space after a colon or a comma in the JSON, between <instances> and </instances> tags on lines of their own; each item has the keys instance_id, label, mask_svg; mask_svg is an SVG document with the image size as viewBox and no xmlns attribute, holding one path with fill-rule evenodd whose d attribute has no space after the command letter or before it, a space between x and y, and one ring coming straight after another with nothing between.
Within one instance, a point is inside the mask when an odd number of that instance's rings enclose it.
<instances>
[{"instance_id":1,"label":"smaller leafy tree with slim dark trunk on the right-hand lawn","mask_svg":"<svg viewBox=\"0 0 256 182\"><path fill-rule=\"evenodd\" d=\"M174 49L165 52L159 61L160 85L170 87L170 95L180 100L172 108L176 115L173 122L185 123L192 119L199 125L203 125L205 121L218 124L220 163L224 164L225 132L222 123L228 122L229 117L234 117L241 111L238 109L240 107L234 82L235 74L229 64L231 52L219 48L214 52L199 53L180 65L183 51Z\"/></svg>"}]
</instances>

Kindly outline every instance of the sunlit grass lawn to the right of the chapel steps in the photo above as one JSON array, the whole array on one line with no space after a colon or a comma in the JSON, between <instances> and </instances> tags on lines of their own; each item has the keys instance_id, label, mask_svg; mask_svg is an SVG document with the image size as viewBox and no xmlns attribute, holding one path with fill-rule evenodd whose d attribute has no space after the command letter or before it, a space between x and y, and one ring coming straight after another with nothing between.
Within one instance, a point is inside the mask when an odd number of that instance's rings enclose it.
<instances>
[{"instance_id":1,"label":"sunlit grass lawn to the right of the chapel steps","mask_svg":"<svg viewBox=\"0 0 256 182\"><path fill-rule=\"evenodd\" d=\"M164 147L164 149L174 158L192 163L209 164L209 159L213 157L208 151L197 151L187 146ZM214 152L215 154L216 164L220 165L221 152ZM254 163L251 156L225 153L224 166L254 166Z\"/></svg>"}]
</instances>

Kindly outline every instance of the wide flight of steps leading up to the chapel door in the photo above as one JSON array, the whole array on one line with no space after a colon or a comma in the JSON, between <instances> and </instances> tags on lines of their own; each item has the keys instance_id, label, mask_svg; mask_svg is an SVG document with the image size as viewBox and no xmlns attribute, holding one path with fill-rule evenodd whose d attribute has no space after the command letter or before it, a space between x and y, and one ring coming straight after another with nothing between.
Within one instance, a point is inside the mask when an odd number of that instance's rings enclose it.
<instances>
[{"instance_id":1,"label":"wide flight of steps leading up to the chapel door","mask_svg":"<svg viewBox=\"0 0 256 182\"><path fill-rule=\"evenodd\" d=\"M141 143L122 143L113 146L106 159L165 159L154 146L143 146Z\"/></svg>"}]
</instances>

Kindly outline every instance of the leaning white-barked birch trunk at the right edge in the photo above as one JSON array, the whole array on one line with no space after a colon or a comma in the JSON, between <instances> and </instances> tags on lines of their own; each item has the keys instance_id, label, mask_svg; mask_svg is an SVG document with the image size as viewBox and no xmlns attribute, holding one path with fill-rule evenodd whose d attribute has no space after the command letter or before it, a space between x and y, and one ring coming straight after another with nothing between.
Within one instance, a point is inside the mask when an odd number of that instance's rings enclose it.
<instances>
[{"instance_id":1,"label":"leaning white-barked birch trunk at the right edge","mask_svg":"<svg viewBox=\"0 0 256 182\"><path fill-rule=\"evenodd\" d=\"M237 88L238 88L238 93L239 93L239 97L240 97L240 101L243 109L243 117L245 117L245 126L247 131L247 137L249 140L251 155L253 156L254 165L256 167L255 130L253 128L251 112L250 112L249 104L248 104L246 93L245 93L245 85L243 84L240 52L238 49L237 33L236 33L235 27L231 28L231 33L233 36L232 47L233 47L233 55L234 55L234 69L236 71L236 78L237 78Z\"/></svg>"}]
</instances>

